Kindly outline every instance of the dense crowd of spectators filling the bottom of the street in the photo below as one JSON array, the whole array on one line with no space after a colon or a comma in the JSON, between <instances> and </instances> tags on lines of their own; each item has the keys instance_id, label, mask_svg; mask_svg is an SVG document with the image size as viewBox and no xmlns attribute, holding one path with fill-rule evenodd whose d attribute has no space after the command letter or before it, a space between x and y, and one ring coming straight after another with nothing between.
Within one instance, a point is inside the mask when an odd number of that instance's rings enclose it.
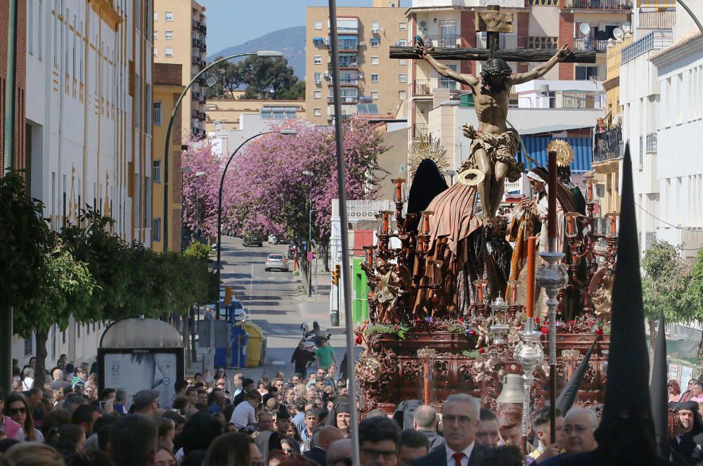
<instances>
[{"instance_id":1,"label":"dense crowd of spectators filling the bottom of the street","mask_svg":"<svg viewBox=\"0 0 703 466\"><path fill-rule=\"evenodd\" d=\"M0 394L0 466L351 466L351 405L347 380L321 364L304 377L277 373L254 380L218 369L174 383L159 406L159 392L100 388L96 366L57 361L43 389L32 361L15 370L10 394ZM295 361L293 361L295 365ZM672 457L682 465L701 458L703 382L681 394L669 384L675 409ZM557 410L555 441L550 413L531 414L531 438L522 438L522 406L482 408L467 394L452 394L438 413L419 402L390 415L371 410L358 425L362 466L558 465L560 458L593 451L600 412ZM527 453L524 453L524 452Z\"/></svg>"}]
</instances>

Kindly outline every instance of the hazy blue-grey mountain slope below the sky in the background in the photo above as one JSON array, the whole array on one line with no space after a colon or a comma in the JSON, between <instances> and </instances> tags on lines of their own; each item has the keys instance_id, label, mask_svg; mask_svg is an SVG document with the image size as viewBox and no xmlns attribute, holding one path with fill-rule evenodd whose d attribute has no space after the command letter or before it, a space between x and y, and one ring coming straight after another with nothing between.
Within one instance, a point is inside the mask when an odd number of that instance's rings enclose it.
<instances>
[{"instance_id":1,"label":"hazy blue-grey mountain slope below the sky in the background","mask_svg":"<svg viewBox=\"0 0 703 466\"><path fill-rule=\"evenodd\" d=\"M244 44L227 47L207 57L212 62L219 56L236 55L237 53L255 52L259 50L276 50L283 53L288 65L298 79L305 79L305 26L286 27L269 32ZM246 57L240 58L244 60Z\"/></svg>"}]
</instances>

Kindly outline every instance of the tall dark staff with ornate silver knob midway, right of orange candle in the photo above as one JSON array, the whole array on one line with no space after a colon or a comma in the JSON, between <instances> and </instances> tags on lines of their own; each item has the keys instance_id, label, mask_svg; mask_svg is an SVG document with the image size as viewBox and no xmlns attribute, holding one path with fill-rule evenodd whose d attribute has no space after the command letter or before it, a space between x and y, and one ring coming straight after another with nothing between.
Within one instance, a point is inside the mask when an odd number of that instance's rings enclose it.
<instances>
[{"instance_id":1,"label":"tall dark staff with ornate silver knob midway, right of orange candle","mask_svg":"<svg viewBox=\"0 0 703 466\"><path fill-rule=\"evenodd\" d=\"M557 427L557 294L562 286L569 281L567 268L560 261L564 258L563 252L557 251L557 153L548 153L548 245L549 250L540 252L540 257L546 262L542 264L537 274L537 283L544 288L547 294L548 328L549 328L549 427L550 441L556 441Z\"/></svg>"}]
</instances>

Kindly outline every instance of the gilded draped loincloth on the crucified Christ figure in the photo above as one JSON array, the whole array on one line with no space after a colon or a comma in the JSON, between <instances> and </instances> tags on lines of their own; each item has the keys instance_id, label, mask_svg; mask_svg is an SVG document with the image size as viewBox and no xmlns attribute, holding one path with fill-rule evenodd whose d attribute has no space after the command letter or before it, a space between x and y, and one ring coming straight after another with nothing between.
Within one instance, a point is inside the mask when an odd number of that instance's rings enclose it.
<instances>
[{"instance_id":1,"label":"gilded draped loincloth on the crucified Christ figure","mask_svg":"<svg viewBox=\"0 0 703 466\"><path fill-rule=\"evenodd\" d=\"M469 158L461 165L459 172L469 168L478 168L474 154L477 150L483 149L491 157L491 162L494 164L502 162L508 165L508 173L505 174L508 181L514 183L520 179L525 166L522 162L515 160L515 153L517 148L520 147L520 135L517 134L515 129L508 129L503 134L496 136L483 132L477 133L471 124L465 124L463 132L464 136L472 139L472 143L469 150Z\"/></svg>"}]
</instances>

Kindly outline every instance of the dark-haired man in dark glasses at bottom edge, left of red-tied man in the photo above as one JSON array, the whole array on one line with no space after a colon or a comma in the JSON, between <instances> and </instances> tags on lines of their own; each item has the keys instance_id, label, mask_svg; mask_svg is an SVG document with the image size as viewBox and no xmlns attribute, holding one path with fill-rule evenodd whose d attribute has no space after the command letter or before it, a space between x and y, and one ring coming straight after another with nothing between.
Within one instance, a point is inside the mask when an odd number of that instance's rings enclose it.
<instances>
[{"instance_id":1,"label":"dark-haired man in dark glasses at bottom edge, left of red-tied man","mask_svg":"<svg viewBox=\"0 0 703 466\"><path fill-rule=\"evenodd\" d=\"M359 424L361 466L396 466L400 427L389 418L366 418ZM432 465L440 466L440 465Z\"/></svg>"}]
</instances>

